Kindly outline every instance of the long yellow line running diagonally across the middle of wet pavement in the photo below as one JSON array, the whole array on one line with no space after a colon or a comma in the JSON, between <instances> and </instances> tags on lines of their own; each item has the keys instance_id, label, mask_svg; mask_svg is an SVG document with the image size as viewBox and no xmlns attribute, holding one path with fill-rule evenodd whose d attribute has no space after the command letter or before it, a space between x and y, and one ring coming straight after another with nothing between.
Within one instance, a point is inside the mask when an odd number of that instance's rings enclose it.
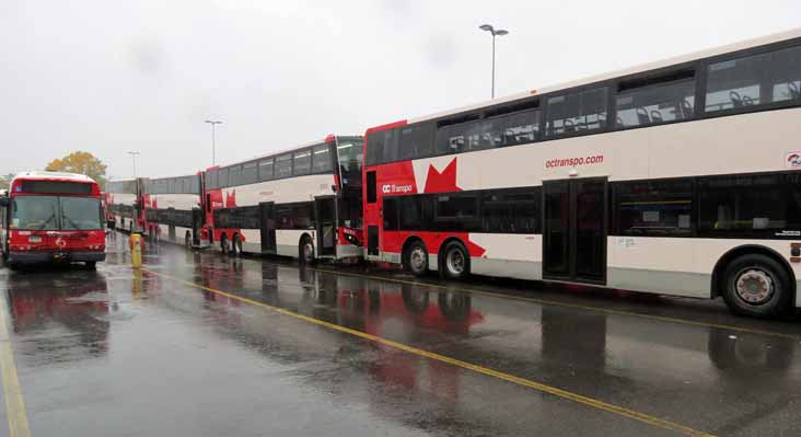
<instances>
[{"instance_id":1,"label":"long yellow line running diagonally across the middle of wet pavement","mask_svg":"<svg viewBox=\"0 0 801 437\"><path fill-rule=\"evenodd\" d=\"M143 271L144 272L148 272L148 273L150 273L152 275L155 275L155 276L162 276L164 278L174 280L176 283L181 283L181 284L187 285L187 286L193 287L193 288L197 288L197 289L206 290L206 291L209 291L209 292L213 292L216 295L224 296L224 297L227 297L229 299L239 300L241 302L248 303L248 304L252 304L252 306L255 306L255 307L260 307L260 308L265 308L265 309L268 309L268 310L272 310L272 311L278 312L280 314L289 315L291 318L299 319L299 320L302 320L302 321L305 321L305 322L309 322L309 323L313 323L313 324L316 324L318 326L325 326L325 327L328 327L330 330L339 331L339 332L347 333L347 334L350 334L350 335L353 335L353 336L357 336L357 337L360 337L360 338L369 340L371 342L375 342L375 343L379 343L379 344L382 344L382 345L385 345L385 346L390 346L390 347L394 347L394 348L397 348L397 349L400 349L400 350L405 350L405 352L408 352L408 353L414 354L414 355L417 355L417 356L426 357L426 358L433 359L433 360L438 360L438 361L441 361L441 363L446 363L446 364L450 364L450 365L453 365L453 366L456 366L456 367L461 367L463 369L473 370L473 371L478 372L478 373L487 375L487 376L495 377L495 378L498 378L498 379L501 379L501 380L504 380L504 381L508 381L508 382L512 382L512 383L515 383L515 384L519 384L519 386L527 387L527 388L531 388L531 389L534 389L534 390L537 390L537 391L541 391L541 392L544 392L544 393L553 394L555 396L558 396L558 398L561 398L561 399L566 399L566 400L569 400L569 401L573 401L573 402L577 402L577 403L580 403L580 404L583 404L583 405L587 405L587 406L591 406L591 407L594 407L594 409L603 410L603 411L606 411L606 412L610 412L610 413L614 413L614 414L617 414L617 415L620 415L620 416L634 418L636 421L643 422L643 423L649 424L649 425L652 425L652 426L657 426L657 427L660 427L660 428L674 430L674 432L681 433L681 434L686 435L686 436L693 436L693 437L712 437L712 435L710 435L710 434L701 433L701 432L698 432L696 429L693 429L690 427L687 427L687 426L684 426L684 425L681 425L681 424L677 424L677 423L674 423L674 422L665 421L663 418L659 418L659 417L655 417L655 416L651 416L649 414L645 414L645 413L640 413L640 412L637 412L637 411L634 411L634 410L629 410L629 409L626 409L624 406L618 406L618 405L611 404L611 403L607 403L607 402L599 401L596 399L592 399L592 398L589 398L589 396L584 396L584 395L581 395L581 394L577 394L577 393L573 393L573 392L570 392L570 391L567 391L567 390L558 389L556 387L547 386L547 384L544 384L542 382L536 382L536 381L532 381L532 380L529 380L529 379L515 377L513 375L504 373L504 372L501 372L501 371L498 371L498 370L492 370L492 369L489 369L489 368L486 368L486 367L481 367L481 366L478 366L478 365L474 365L474 364L471 364L471 363L467 363L467 361L462 361L460 359L451 358L451 357L448 357L448 356L444 356L444 355L440 355L440 354L437 354L437 353L432 353L432 352L428 352L428 350L423 350L423 349L418 349L417 347L413 347L413 346L409 346L409 345L406 345L406 344L403 344L403 343L394 342L392 340L386 340L386 338L383 338L383 337L380 337L380 336L376 336L376 335L368 334L365 332L361 332L361 331L357 331L357 330L351 330L349 327L345 327L345 326L341 326L341 325L338 325L338 324L329 323L329 322L326 322L326 321L323 321L323 320L320 320L320 319L311 318L309 315L299 314L297 312L289 311L289 310L283 309L283 308L274 307L274 306L268 304L268 303L259 302L257 300L248 299L248 298L245 298L245 297L242 297L242 296L236 296L236 295L233 295L233 294L230 294L230 292L227 292L227 291L218 290L216 288L206 287L206 286L202 286L200 284L196 284L196 283L193 283L193 281L189 281L189 280L184 280L184 279L181 279L181 278L176 278L176 277L173 277L173 276L170 276L170 275L166 275L166 274L163 274L163 273L154 272L154 271L151 271L151 269L148 269L148 268L143 268Z\"/></svg>"}]
</instances>

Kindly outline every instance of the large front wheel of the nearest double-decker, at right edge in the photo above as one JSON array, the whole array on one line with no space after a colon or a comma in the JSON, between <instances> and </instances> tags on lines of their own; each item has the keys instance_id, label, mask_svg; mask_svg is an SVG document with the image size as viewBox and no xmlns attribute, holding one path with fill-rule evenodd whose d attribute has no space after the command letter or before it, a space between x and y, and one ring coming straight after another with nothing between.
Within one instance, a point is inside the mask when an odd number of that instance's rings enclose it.
<instances>
[{"instance_id":1,"label":"large front wheel of the nearest double-decker, at right edge","mask_svg":"<svg viewBox=\"0 0 801 437\"><path fill-rule=\"evenodd\" d=\"M789 309L790 277L765 255L744 255L725 268L723 299L738 314L775 317Z\"/></svg>"}]
</instances>

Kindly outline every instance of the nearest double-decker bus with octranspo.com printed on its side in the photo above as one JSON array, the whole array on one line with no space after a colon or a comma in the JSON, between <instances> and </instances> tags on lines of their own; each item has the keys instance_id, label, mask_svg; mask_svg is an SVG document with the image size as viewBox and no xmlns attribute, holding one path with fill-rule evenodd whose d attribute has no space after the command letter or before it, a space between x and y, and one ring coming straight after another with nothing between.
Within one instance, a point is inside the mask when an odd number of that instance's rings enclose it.
<instances>
[{"instance_id":1,"label":"nearest double-decker bus with octranspo.com printed on its side","mask_svg":"<svg viewBox=\"0 0 801 437\"><path fill-rule=\"evenodd\" d=\"M801 307L801 30L365 134L367 260Z\"/></svg>"}]
</instances>

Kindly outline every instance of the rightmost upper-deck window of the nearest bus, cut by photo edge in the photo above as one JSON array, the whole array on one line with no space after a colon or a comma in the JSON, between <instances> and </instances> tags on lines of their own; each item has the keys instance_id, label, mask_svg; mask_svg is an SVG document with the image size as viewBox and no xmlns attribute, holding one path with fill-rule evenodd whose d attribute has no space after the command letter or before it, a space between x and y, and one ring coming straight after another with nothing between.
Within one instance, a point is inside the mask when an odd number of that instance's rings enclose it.
<instances>
[{"instance_id":1,"label":"rightmost upper-deck window of the nearest bus, cut by photo edge","mask_svg":"<svg viewBox=\"0 0 801 437\"><path fill-rule=\"evenodd\" d=\"M706 113L801 100L801 47L711 64Z\"/></svg>"}]
</instances>

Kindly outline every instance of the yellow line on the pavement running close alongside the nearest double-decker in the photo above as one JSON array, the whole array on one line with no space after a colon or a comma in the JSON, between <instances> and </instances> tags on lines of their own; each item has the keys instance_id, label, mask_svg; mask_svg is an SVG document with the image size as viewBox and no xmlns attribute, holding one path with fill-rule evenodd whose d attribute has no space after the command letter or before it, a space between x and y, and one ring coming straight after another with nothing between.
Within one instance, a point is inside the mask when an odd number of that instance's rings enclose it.
<instances>
[{"instance_id":1,"label":"yellow line on the pavement running close alongside the nearest double-decker","mask_svg":"<svg viewBox=\"0 0 801 437\"><path fill-rule=\"evenodd\" d=\"M279 265L279 264L276 264L276 265ZM751 329L751 327L741 327L741 326L734 326L734 325L730 325L730 324L698 322L698 321L694 321L694 320L671 318L671 317L665 317L665 315L642 314L642 313L632 312L632 311L613 310L613 309L607 309L607 308L599 308L599 307L585 306L585 304L580 304L580 303L559 302L559 301L547 300L547 299L525 298L522 296L504 295L504 294L499 294L499 292L491 292L491 291L484 291L484 290L476 290L476 289L461 288L461 287L453 287L453 286L444 286L444 285L439 285L439 284L429 284L429 283L422 283L422 281L417 281L417 280L405 280L405 279L397 279L397 278L375 276L375 275L362 275L362 274L358 274L358 273L329 271L327 268L314 268L314 269L318 271L318 272L335 274L335 275L355 276L355 277L362 277L365 279L386 280L388 283L415 285L418 287L430 287L430 288L437 288L437 289L442 289L442 290L448 290L448 291L467 292L471 295L487 296L487 297L499 298L499 299L512 299L512 300L520 300L520 301L532 302L532 303L537 303L537 304L549 304L549 306L556 306L556 307L573 308L573 309L585 310L585 311L605 312L607 314L629 315L629 317L647 319L647 320L658 320L660 322L686 324L686 325L690 325L690 326L716 327L716 329L720 329L720 330L736 331L736 332L742 332L742 333L746 333L746 334L767 335L767 336L773 336L773 337L789 338L789 340L793 340L793 341L801 338L801 335L785 334L785 333L780 333L780 332L764 331L764 330L755 330L755 329Z\"/></svg>"}]
</instances>

